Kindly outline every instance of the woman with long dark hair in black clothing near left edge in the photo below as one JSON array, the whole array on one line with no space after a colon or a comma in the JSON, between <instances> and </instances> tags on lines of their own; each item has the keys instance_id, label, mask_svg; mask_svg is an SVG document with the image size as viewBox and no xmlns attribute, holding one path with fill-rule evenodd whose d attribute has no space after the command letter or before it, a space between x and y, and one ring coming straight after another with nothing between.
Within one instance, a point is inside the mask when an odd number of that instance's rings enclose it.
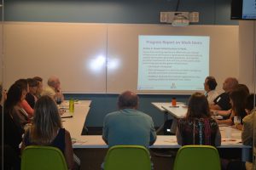
<instances>
[{"instance_id":1,"label":"woman with long dark hair in black clothing near left edge","mask_svg":"<svg viewBox=\"0 0 256 170\"><path fill-rule=\"evenodd\" d=\"M19 84L13 84L4 101L3 116L1 116L3 117L4 169L20 169L19 144L24 133L23 127L28 122L26 112L20 107L20 101L25 95L26 89L21 88Z\"/></svg>"}]
</instances>

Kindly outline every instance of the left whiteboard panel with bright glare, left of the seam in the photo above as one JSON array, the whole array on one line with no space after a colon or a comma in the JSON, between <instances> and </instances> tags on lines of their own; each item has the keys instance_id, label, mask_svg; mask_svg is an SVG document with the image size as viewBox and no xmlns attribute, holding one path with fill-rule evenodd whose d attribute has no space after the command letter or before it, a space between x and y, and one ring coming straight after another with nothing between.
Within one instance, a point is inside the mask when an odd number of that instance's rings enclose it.
<instances>
[{"instance_id":1,"label":"left whiteboard panel with bright glare, left of the seam","mask_svg":"<svg viewBox=\"0 0 256 170\"><path fill-rule=\"evenodd\" d=\"M59 23L4 25L4 82L54 75L67 93L106 93L107 27Z\"/></svg>"}]
</instances>

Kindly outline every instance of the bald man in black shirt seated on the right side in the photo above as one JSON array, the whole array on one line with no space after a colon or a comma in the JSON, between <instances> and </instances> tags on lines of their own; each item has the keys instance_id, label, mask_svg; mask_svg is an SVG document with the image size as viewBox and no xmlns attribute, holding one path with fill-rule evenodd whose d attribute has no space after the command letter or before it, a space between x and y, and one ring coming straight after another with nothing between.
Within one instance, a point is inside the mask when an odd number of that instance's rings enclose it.
<instances>
[{"instance_id":1,"label":"bald man in black shirt seated on the right side","mask_svg":"<svg viewBox=\"0 0 256 170\"><path fill-rule=\"evenodd\" d=\"M238 81L234 77L228 77L223 83L224 93L219 94L216 99L213 100L214 104L210 105L210 108L215 111L228 111L231 108L230 105L230 92L236 88Z\"/></svg>"}]
</instances>

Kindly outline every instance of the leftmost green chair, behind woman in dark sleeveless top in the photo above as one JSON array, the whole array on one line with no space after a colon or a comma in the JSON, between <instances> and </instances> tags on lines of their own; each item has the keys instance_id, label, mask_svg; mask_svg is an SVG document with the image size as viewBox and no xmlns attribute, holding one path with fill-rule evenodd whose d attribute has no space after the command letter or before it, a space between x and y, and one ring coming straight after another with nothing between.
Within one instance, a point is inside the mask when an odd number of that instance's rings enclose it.
<instances>
[{"instance_id":1,"label":"leftmost green chair, behind woman in dark sleeveless top","mask_svg":"<svg viewBox=\"0 0 256 170\"><path fill-rule=\"evenodd\" d=\"M61 150L51 146L27 146L21 155L21 170L67 170Z\"/></svg>"}]
</instances>

